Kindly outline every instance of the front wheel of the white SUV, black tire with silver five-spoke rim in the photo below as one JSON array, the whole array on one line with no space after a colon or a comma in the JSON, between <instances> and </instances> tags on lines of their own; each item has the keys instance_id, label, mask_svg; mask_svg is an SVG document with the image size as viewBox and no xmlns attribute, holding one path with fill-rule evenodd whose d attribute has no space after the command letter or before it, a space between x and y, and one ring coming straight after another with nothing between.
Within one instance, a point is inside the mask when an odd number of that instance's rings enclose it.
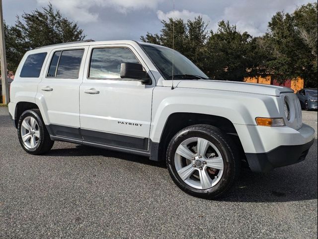
<instances>
[{"instance_id":1,"label":"front wheel of the white SUV, black tire with silver five-spoke rim","mask_svg":"<svg viewBox=\"0 0 318 239\"><path fill-rule=\"evenodd\" d=\"M166 164L172 180L184 192L207 199L223 196L239 176L239 153L219 128L197 124L171 139Z\"/></svg>"}]
</instances>

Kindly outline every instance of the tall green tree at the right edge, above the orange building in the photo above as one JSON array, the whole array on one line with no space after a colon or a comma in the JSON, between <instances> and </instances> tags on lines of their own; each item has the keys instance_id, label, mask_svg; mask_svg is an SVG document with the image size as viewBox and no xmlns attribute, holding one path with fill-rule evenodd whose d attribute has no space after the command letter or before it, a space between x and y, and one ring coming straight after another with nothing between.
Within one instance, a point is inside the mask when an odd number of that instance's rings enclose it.
<instances>
[{"instance_id":1,"label":"tall green tree at the right edge, above the orange building","mask_svg":"<svg viewBox=\"0 0 318 239\"><path fill-rule=\"evenodd\" d=\"M317 87L317 3L292 14L277 12L268 27L262 39L269 53L268 72L279 82L302 77L305 87Z\"/></svg>"}]
</instances>

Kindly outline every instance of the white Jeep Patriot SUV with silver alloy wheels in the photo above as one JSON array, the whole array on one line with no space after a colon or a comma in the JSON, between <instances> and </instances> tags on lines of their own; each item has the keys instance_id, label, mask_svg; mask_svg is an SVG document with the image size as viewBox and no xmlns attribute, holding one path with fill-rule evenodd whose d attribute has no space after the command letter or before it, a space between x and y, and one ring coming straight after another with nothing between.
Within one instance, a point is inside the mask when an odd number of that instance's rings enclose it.
<instances>
[{"instance_id":1,"label":"white Jeep Patriot SUV with silver alloy wheels","mask_svg":"<svg viewBox=\"0 0 318 239\"><path fill-rule=\"evenodd\" d=\"M28 153L59 140L166 160L179 188L205 198L224 194L241 163L266 172L314 142L291 89L209 80L180 53L136 41L28 51L10 97Z\"/></svg>"}]
</instances>

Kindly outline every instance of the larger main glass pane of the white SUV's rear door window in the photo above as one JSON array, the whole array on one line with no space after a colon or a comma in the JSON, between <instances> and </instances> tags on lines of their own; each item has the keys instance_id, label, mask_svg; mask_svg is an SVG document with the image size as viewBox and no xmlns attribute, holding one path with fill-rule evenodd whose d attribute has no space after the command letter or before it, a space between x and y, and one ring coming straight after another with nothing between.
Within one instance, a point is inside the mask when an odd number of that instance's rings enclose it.
<instances>
[{"instance_id":1,"label":"larger main glass pane of the white SUV's rear door window","mask_svg":"<svg viewBox=\"0 0 318 239\"><path fill-rule=\"evenodd\" d=\"M78 78L83 53L83 49L62 51L56 77Z\"/></svg>"}]
</instances>

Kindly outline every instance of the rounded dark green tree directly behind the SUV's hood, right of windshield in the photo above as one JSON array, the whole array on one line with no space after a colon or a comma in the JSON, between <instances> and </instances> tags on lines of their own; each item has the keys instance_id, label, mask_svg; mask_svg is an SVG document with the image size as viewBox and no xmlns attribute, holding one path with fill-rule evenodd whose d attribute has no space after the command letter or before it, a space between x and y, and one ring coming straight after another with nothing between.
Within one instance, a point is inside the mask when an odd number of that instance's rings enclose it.
<instances>
[{"instance_id":1,"label":"rounded dark green tree directly behind the SUV's hood, right of windshield","mask_svg":"<svg viewBox=\"0 0 318 239\"><path fill-rule=\"evenodd\" d=\"M208 52L208 75L219 80L242 81L254 76L263 59L256 38L247 32L240 33L229 21L220 21L218 30L211 31Z\"/></svg>"}]
</instances>

